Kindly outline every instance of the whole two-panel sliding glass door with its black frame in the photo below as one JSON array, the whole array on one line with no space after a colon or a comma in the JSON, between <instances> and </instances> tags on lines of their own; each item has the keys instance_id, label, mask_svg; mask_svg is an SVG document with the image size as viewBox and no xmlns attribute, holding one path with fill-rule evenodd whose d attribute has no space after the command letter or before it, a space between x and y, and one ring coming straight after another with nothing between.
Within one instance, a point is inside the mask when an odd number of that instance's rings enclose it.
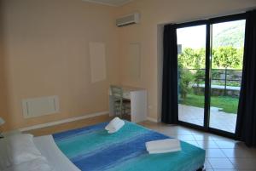
<instances>
[{"instance_id":1,"label":"whole two-panel sliding glass door with its black frame","mask_svg":"<svg viewBox=\"0 0 256 171\"><path fill-rule=\"evenodd\" d=\"M235 133L244 36L242 15L177 25L179 123Z\"/></svg>"}]
</instances>

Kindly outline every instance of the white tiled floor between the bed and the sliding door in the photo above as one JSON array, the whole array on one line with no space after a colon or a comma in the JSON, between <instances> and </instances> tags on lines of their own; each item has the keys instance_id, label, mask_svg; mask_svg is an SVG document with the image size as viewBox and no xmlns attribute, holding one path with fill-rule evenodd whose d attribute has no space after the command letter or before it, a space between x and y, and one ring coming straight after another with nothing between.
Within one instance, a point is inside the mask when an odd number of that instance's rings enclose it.
<instances>
[{"instance_id":1,"label":"white tiled floor between the bed and the sliding door","mask_svg":"<svg viewBox=\"0 0 256 171\"><path fill-rule=\"evenodd\" d=\"M176 125L151 122L141 125L205 149L207 171L256 171L256 149L241 142Z\"/></svg>"}]
</instances>

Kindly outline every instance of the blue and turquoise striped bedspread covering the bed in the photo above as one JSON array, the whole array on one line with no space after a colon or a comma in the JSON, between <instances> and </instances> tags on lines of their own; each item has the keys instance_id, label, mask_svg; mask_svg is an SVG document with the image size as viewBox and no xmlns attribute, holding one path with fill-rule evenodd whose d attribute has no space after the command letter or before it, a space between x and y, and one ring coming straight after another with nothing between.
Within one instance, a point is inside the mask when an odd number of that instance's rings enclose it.
<instances>
[{"instance_id":1,"label":"blue and turquoise striped bedspread covering the bed","mask_svg":"<svg viewBox=\"0 0 256 171\"><path fill-rule=\"evenodd\" d=\"M205 151L181 141L182 151L148 154L145 142L170 138L125 122L115 134L108 123L53 134L56 145L82 171L195 171L205 161Z\"/></svg>"}]
</instances>

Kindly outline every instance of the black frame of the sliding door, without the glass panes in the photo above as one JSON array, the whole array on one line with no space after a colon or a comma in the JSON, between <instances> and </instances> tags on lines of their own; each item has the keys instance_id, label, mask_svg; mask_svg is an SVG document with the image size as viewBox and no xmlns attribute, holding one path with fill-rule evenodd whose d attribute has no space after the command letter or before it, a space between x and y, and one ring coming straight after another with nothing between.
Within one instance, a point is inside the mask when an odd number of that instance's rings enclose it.
<instances>
[{"instance_id":1,"label":"black frame of the sliding door, without the glass panes","mask_svg":"<svg viewBox=\"0 0 256 171\"><path fill-rule=\"evenodd\" d=\"M177 24L177 29L185 28L189 26L201 26L206 25L206 71L205 71L205 104L204 104L204 125L195 125L193 123L186 123L178 120L178 124L183 125L185 127L196 128L206 132L210 132L213 134L219 134L225 137L229 137L234 139L235 134L220 130L218 128L210 128L210 107L211 107L211 80L212 80L212 25L236 21L236 20L246 20L246 14L232 14L228 16L216 17L208 20L196 20L186 23Z\"/></svg>"}]
</instances>

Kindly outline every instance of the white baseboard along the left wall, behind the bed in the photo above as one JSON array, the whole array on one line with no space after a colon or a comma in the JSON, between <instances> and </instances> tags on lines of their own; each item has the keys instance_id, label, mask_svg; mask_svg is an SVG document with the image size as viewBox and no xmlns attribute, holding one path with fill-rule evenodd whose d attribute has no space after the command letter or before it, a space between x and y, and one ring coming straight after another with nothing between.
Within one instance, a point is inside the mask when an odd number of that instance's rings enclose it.
<instances>
[{"instance_id":1,"label":"white baseboard along the left wall, behind the bed","mask_svg":"<svg viewBox=\"0 0 256 171\"><path fill-rule=\"evenodd\" d=\"M38 125L33 125L31 127L19 128L19 131L23 132L23 131L29 131L29 130L32 130L32 129L36 129L36 128L50 127L50 126L58 125L58 124L61 124L61 123L70 123L70 122L73 122L73 121L78 121L78 120L81 120L81 119L87 119L87 118L90 118L90 117L99 117L99 116L102 116L102 115L106 115L108 113L109 113L109 111L101 111L101 112L96 112L96 113L90 113L90 114L83 115L83 116L80 116L80 117L71 117L71 118L68 118L68 119L62 119L60 121L55 121L55 122L51 122L51 123L42 123L42 124L38 124Z\"/></svg>"}]
</instances>

